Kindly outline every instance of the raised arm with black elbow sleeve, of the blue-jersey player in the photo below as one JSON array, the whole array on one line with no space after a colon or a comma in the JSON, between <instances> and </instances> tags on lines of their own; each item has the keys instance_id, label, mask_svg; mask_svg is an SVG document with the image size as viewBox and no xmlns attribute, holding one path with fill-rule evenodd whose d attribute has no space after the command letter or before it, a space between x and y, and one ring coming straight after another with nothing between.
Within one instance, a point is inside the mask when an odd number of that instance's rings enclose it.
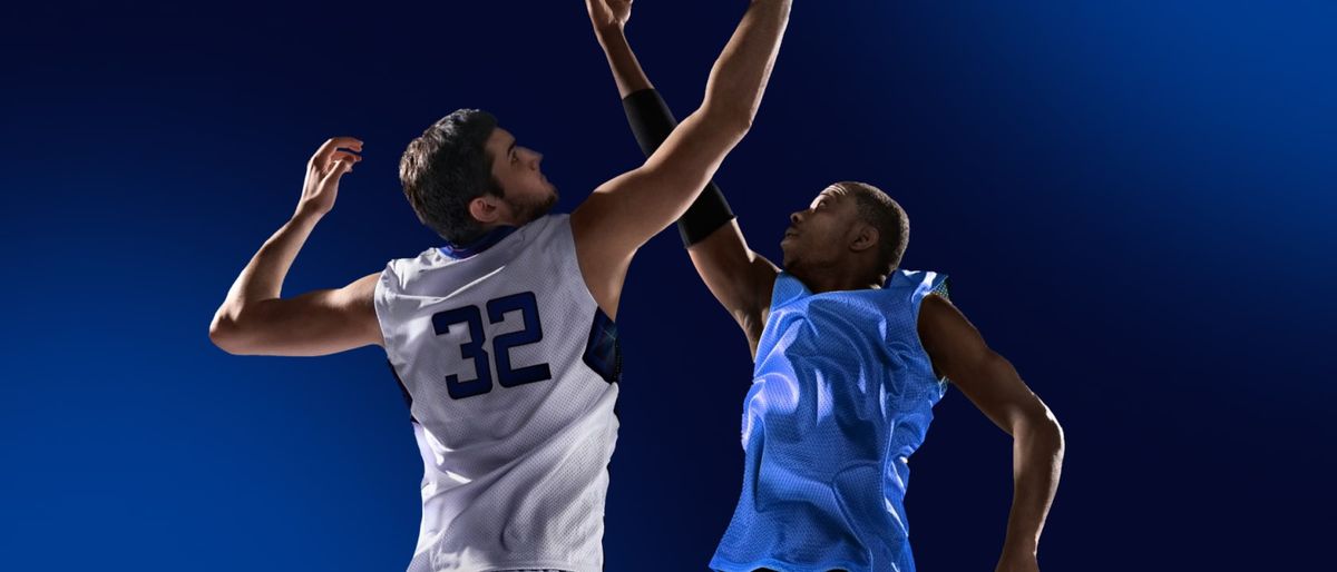
<instances>
[{"instance_id":1,"label":"raised arm with black elbow sleeve, of the blue-jersey player","mask_svg":"<svg viewBox=\"0 0 1337 572\"><path fill-rule=\"evenodd\" d=\"M627 123L640 150L650 156L678 126L667 103L640 68L626 24L630 0L586 0L595 36L622 96ZM689 249L697 273L715 299L738 321L755 353L770 305L770 290L779 270L747 247L723 192L711 180L678 219L678 233Z\"/></svg>"}]
</instances>

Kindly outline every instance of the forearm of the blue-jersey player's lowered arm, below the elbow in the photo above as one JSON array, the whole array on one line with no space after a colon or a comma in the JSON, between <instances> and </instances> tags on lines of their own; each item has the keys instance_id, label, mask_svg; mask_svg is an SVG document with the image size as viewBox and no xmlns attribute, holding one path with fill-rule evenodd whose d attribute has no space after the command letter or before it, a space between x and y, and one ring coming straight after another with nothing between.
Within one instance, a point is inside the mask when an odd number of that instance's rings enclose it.
<instances>
[{"instance_id":1,"label":"forearm of the blue-jersey player's lowered arm, below the elbow","mask_svg":"<svg viewBox=\"0 0 1337 572\"><path fill-rule=\"evenodd\" d=\"M1012 511L1003 552L1035 555L1063 470L1063 428L1046 408L1017 424L1012 438Z\"/></svg>"}]
</instances>

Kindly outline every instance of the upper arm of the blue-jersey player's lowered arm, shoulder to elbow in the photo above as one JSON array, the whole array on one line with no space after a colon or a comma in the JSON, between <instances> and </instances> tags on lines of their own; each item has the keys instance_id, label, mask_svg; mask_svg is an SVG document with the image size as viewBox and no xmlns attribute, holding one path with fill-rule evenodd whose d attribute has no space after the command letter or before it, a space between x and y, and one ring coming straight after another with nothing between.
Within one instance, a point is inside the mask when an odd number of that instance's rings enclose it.
<instances>
[{"instance_id":1,"label":"upper arm of the blue-jersey player's lowered arm, shoulder to elbow","mask_svg":"<svg viewBox=\"0 0 1337 572\"><path fill-rule=\"evenodd\" d=\"M919 327L933 368L1003 430L1012 433L1028 416L1046 410L1016 368L947 299L927 297Z\"/></svg>"}]
</instances>

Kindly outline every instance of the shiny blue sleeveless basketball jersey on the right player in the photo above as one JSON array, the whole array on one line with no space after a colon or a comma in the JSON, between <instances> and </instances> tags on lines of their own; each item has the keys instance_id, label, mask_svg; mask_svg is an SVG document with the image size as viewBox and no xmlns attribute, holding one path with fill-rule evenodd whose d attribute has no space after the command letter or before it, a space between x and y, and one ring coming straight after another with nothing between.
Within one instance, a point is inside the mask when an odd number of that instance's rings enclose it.
<instances>
[{"instance_id":1,"label":"shiny blue sleeveless basketball jersey on the right player","mask_svg":"<svg viewBox=\"0 0 1337 572\"><path fill-rule=\"evenodd\" d=\"M909 456L947 381L919 309L947 277L897 271L880 290L810 293L783 273L743 409L743 489L710 567L908 572Z\"/></svg>"}]
</instances>

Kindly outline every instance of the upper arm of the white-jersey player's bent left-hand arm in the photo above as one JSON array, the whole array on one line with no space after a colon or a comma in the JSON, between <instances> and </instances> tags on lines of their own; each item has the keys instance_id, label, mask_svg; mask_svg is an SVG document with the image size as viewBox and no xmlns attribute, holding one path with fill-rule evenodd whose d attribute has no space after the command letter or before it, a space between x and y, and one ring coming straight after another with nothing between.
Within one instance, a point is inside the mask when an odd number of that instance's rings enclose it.
<instances>
[{"instance_id":1,"label":"upper arm of the white-jersey player's bent left-hand arm","mask_svg":"<svg viewBox=\"0 0 1337 572\"><path fill-rule=\"evenodd\" d=\"M341 289L255 302L238 317L239 353L326 355L384 345L374 303L378 278L369 274Z\"/></svg>"}]
</instances>

